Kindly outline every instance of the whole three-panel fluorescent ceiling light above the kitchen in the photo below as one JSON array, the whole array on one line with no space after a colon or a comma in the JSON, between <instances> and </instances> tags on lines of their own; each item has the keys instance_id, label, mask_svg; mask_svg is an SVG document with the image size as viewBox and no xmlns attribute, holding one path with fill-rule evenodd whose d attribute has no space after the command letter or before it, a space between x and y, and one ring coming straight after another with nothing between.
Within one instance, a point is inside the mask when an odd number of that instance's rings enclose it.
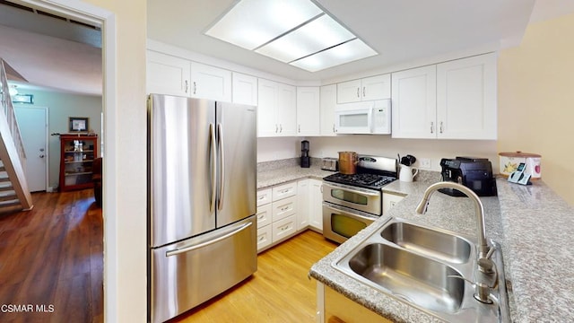
<instances>
[{"instance_id":1,"label":"whole three-panel fluorescent ceiling light above the kitchen","mask_svg":"<svg viewBox=\"0 0 574 323\"><path fill-rule=\"evenodd\" d=\"M310 0L241 0L205 34L309 72L378 55Z\"/></svg>"}]
</instances>

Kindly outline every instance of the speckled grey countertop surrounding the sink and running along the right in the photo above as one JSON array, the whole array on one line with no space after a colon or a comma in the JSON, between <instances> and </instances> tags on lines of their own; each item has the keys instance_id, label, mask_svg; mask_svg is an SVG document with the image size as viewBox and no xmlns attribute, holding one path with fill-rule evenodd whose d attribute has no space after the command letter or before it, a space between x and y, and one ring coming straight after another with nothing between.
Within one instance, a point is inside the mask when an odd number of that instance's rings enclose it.
<instances>
[{"instance_id":1,"label":"speckled grey countertop surrounding the sink and running along the right","mask_svg":"<svg viewBox=\"0 0 574 323\"><path fill-rule=\"evenodd\" d=\"M413 183L395 181L384 191L406 195L388 216L476 236L474 205L468 198L435 193L426 214L416 214L422 193L439 176ZM537 181L524 187L497 179L498 197L481 197L487 239L502 248L514 322L574 322L574 209ZM387 222L383 216L318 261L309 274L387 319L439 322L422 310L342 274L331 264Z\"/></svg>"}]
</instances>

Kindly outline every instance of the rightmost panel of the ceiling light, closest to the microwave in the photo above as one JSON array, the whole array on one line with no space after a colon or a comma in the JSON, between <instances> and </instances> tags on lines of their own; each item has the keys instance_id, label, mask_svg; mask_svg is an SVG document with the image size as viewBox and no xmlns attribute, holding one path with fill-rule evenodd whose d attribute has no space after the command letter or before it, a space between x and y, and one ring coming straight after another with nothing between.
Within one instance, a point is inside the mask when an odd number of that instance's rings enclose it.
<instances>
[{"instance_id":1,"label":"rightmost panel of the ceiling light, closest to the microwave","mask_svg":"<svg viewBox=\"0 0 574 323\"><path fill-rule=\"evenodd\" d=\"M309 72L317 72L322 69L343 65L361 58L377 55L377 52L365 44L361 39L353 39L349 42L326 49L315 55L303 57L300 60L291 62Z\"/></svg>"}]
</instances>

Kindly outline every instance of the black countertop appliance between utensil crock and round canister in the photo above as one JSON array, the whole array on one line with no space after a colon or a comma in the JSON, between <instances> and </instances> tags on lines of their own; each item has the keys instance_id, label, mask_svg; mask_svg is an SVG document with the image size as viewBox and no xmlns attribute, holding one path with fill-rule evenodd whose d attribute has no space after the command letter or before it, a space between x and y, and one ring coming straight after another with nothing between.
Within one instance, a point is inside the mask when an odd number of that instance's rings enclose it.
<instances>
[{"instance_id":1,"label":"black countertop appliance between utensil crock and round canister","mask_svg":"<svg viewBox=\"0 0 574 323\"><path fill-rule=\"evenodd\" d=\"M470 188L477 196L496 196L496 180L492 176L492 165L486 158L457 157L443 158L442 180L454 181ZM439 191L449 196L465 196L455 188L439 188Z\"/></svg>"}]
</instances>

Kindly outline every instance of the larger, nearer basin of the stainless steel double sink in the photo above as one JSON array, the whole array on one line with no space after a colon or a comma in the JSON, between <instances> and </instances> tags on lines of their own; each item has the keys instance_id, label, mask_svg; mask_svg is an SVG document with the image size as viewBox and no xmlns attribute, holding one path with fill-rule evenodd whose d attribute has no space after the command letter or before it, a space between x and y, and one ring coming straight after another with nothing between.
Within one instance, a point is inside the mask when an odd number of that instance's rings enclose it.
<instances>
[{"instance_id":1,"label":"larger, nearer basin of the stainless steel double sink","mask_svg":"<svg viewBox=\"0 0 574 323\"><path fill-rule=\"evenodd\" d=\"M349 267L395 296L429 310L455 312L465 295L465 281L447 277L460 276L453 267L381 243L360 249L349 260Z\"/></svg>"}]
</instances>

